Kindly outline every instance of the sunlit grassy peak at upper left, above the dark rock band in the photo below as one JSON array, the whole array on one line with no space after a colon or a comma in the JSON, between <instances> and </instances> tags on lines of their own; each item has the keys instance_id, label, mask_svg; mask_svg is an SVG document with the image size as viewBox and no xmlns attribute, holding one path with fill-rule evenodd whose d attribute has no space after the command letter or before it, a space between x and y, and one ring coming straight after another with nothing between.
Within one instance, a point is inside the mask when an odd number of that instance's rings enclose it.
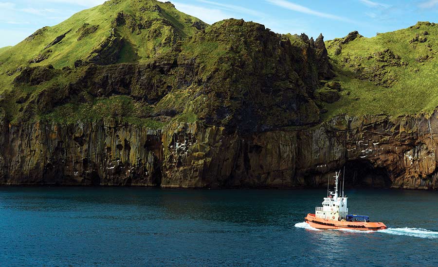
<instances>
[{"instance_id":1,"label":"sunlit grassy peak at upper left, above the dark rock band","mask_svg":"<svg viewBox=\"0 0 438 267\"><path fill-rule=\"evenodd\" d=\"M146 62L205 26L170 2L107 1L38 30L7 52L0 50L0 92L27 66Z\"/></svg>"}]
</instances>

